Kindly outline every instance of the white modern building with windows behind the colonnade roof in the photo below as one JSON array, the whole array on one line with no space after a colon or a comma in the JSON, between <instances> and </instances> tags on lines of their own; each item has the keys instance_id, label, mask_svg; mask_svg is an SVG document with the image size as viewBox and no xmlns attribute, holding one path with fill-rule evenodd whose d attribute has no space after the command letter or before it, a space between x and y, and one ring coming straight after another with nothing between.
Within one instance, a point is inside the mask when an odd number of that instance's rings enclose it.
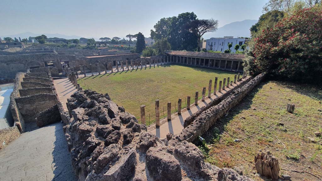
<instances>
[{"instance_id":1,"label":"white modern building with windows behind the colonnade roof","mask_svg":"<svg viewBox=\"0 0 322 181\"><path fill-rule=\"evenodd\" d=\"M240 46L242 46L243 44L245 44L245 38L234 38L233 36L224 36L223 38L210 38L206 40L206 50L224 52L225 50L228 50L229 43L232 43L232 48L230 48L232 53L235 53L235 45L239 44ZM242 51L241 47L239 47L239 50Z\"/></svg>"}]
</instances>

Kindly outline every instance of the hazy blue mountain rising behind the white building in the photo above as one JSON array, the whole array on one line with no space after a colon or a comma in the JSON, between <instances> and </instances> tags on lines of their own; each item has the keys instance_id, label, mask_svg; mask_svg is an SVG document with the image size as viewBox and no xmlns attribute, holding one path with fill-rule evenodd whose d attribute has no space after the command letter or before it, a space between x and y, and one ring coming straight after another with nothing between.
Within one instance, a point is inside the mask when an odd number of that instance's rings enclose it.
<instances>
[{"instance_id":1,"label":"hazy blue mountain rising behind the white building","mask_svg":"<svg viewBox=\"0 0 322 181\"><path fill-rule=\"evenodd\" d=\"M224 36L234 36L236 37L250 37L251 32L250 28L252 25L257 23L257 20L243 20L243 21L236 21L230 24L226 24L223 27L218 28L215 32L205 33L204 38L219 38Z\"/></svg>"}]
</instances>

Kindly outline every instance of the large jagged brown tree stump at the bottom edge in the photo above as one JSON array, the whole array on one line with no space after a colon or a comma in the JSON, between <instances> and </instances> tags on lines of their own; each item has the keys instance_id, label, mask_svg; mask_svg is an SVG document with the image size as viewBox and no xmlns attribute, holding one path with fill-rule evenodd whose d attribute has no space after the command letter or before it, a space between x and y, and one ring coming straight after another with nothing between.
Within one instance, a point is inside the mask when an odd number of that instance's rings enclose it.
<instances>
[{"instance_id":1,"label":"large jagged brown tree stump at the bottom edge","mask_svg":"<svg viewBox=\"0 0 322 181\"><path fill-rule=\"evenodd\" d=\"M257 173L273 180L279 178L279 161L269 151L257 153L255 156L255 168Z\"/></svg>"}]
</instances>

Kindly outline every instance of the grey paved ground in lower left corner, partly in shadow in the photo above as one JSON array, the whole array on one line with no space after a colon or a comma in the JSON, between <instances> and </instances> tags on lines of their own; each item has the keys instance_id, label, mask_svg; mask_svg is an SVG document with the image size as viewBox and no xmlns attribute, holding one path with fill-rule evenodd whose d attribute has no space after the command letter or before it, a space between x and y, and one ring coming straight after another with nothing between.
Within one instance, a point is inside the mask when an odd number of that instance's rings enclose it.
<instances>
[{"instance_id":1,"label":"grey paved ground in lower left corner, partly in shadow","mask_svg":"<svg viewBox=\"0 0 322 181\"><path fill-rule=\"evenodd\" d=\"M62 129L54 123L19 138L0 150L0 181L75 181Z\"/></svg>"}]
</instances>

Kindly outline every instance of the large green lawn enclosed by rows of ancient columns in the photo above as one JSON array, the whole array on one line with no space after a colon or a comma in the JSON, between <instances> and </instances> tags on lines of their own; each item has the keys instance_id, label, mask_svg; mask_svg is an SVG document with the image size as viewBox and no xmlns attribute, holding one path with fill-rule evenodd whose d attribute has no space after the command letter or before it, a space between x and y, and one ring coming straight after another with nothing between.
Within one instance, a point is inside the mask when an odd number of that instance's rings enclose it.
<instances>
[{"instance_id":1,"label":"large green lawn enclosed by rows of ancient columns","mask_svg":"<svg viewBox=\"0 0 322 181\"><path fill-rule=\"evenodd\" d=\"M92 89L99 93L108 93L113 101L123 106L126 111L135 115L140 121L140 105L146 105L146 120L149 124L155 121L155 100L160 100L160 118L167 116L167 102L171 101L172 112L177 110L178 99L186 107L185 98L191 96L194 101L195 91L202 97L202 89L208 93L209 80L234 77L233 72L204 68L193 68L179 65L151 67L86 77L79 81L83 89ZM219 83L218 83L219 84ZM176 110L175 110L176 105ZM163 114L163 109L165 109Z\"/></svg>"}]
</instances>

